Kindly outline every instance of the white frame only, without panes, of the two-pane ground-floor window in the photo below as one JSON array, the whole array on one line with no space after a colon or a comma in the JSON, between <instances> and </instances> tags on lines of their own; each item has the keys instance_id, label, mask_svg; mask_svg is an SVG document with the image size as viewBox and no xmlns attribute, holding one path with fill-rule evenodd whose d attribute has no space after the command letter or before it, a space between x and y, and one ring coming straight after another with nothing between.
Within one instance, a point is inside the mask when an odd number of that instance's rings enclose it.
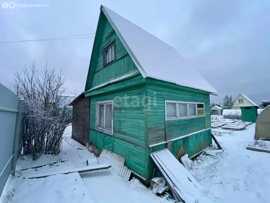
<instances>
[{"instance_id":1,"label":"white frame only, without panes, of the two-pane ground-floor window","mask_svg":"<svg viewBox=\"0 0 270 203\"><path fill-rule=\"evenodd\" d=\"M99 126L99 105L104 104L104 126L106 125L106 104L112 105L112 129ZM113 99L96 102L96 130L113 135Z\"/></svg>"}]
</instances>

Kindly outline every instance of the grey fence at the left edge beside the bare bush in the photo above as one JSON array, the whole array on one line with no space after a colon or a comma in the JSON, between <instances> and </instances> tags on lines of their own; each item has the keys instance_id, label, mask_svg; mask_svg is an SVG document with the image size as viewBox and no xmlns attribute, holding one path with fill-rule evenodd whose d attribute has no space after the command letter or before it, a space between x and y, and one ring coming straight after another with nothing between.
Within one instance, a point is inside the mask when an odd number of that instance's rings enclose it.
<instances>
[{"instance_id":1,"label":"grey fence at the left edge beside the bare bush","mask_svg":"<svg viewBox=\"0 0 270 203\"><path fill-rule=\"evenodd\" d=\"M12 170L15 145L14 136L16 132L19 99L18 96L0 83L0 194L3 191ZM20 127L22 125L18 126ZM20 133L17 141L21 141L21 137L22 135ZM20 148L22 148L22 146L20 146ZM19 151L20 149L17 150ZM14 160L15 163L17 157L18 156L16 155Z\"/></svg>"}]
</instances>

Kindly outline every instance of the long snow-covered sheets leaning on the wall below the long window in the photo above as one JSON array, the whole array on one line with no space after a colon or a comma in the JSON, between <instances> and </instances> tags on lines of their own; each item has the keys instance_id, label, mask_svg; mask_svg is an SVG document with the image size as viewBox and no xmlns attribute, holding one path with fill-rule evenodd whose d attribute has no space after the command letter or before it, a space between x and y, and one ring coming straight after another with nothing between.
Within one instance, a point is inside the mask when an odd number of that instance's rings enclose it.
<instances>
[{"instance_id":1,"label":"long snow-covered sheets leaning on the wall below the long window","mask_svg":"<svg viewBox=\"0 0 270 203\"><path fill-rule=\"evenodd\" d=\"M158 169L170 186L174 198L185 203L206 202L201 185L166 148L150 154Z\"/></svg>"}]
</instances>

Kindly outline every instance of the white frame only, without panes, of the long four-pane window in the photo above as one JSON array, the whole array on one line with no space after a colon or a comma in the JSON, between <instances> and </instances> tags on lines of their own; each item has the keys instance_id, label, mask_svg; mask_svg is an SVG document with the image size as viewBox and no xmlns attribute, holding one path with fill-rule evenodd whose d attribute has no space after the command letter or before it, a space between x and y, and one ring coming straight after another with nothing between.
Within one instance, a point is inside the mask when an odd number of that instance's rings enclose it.
<instances>
[{"instance_id":1,"label":"white frame only, without panes, of the long four-pane window","mask_svg":"<svg viewBox=\"0 0 270 203\"><path fill-rule=\"evenodd\" d=\"M204 114L201 116L198 116L198 110L197 110L197 105L196 105L196 115L195 116L190 116L189 115L189 105L187 105L187 114L188 116L179 116L178 112L178 104L176 105L176 117L169 117L167 118L167 108L166 108L166 103L181 103L181 104L203 104L203 109L204 109ZM205 115L205 105L203 102L182 102L182 101L171 101L171 100L165 100L165 118L167 120L180 120L180 119L190 119L190 118L198 118L198 117L204 117Z\"/></svg>"}]
</instances>

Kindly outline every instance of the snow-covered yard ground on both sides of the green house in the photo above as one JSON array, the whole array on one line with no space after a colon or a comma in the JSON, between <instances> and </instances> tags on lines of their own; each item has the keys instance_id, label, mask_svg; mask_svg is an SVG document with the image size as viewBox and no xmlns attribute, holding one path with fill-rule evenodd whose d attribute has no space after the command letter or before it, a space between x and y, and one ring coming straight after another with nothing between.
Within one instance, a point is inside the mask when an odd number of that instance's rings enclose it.
<instances>
[{"instance_id":1,"label":"snow-covered yard ground on both sides of the green house","mask_svg":"<svg viewBox=\"0 0 270 203\"><path fill-rule=\"evenodd\" d=\"M269 202L270 154L247 150L247 146L265 146L270 142L255 143L255 124L242 131L213 129L224 152L214 156L201 154L194 160L190 173L204 187L207 202L251 203ZM71 128L68 128L70 130ZM67 134L70 134L67 131ZM129 182L118 177L110 168L102 171L54 175L27 179L28 175L74 169L86 166L92 155L84 146L67 137L58 156L43 155L36 161L22 157L17 162L15 178L9 178L2 202L169 202L158 197L137 179ZM214 142L213 142L214 143ZM77 149L81 148L83 150ZM58 159L66 162L53 163ZM23 168L50 163L38 169ZM19 174L20 172L20 174ZM7 195L5 195L7 194Z\"/></svg>"}]
</instances>

